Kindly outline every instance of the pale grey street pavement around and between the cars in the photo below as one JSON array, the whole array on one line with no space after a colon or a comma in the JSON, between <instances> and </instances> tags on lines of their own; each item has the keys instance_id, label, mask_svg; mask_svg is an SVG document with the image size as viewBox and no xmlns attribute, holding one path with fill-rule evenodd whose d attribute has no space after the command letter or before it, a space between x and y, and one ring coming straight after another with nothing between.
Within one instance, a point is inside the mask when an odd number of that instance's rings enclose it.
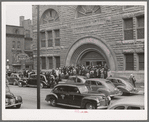
<instances>
[{"instance_id":1,"label":"pale grey street pavement around and between the cars","mask_svg":"<svg viewBox=\"0 0 149 122\"><path fill-rule=\"evenodd\" d=\"M142 84L136 84L137 89L139 90L138 94L144 93L144 87ZM34 87L18 87L14 85L9 85L10 91L15 96L21 96L23 98L23 104L20 109L37 109L37 88ZM45 97L51 91L50 88L40 89L40 109L72 109L71 107L65 106L56 106L52 107L45 101ZM118 99L124 98L127 96L116 96L112 99L111 104L117 101ZM73 108L76 109L76 108Z\"/></svg>"}]
</instances>

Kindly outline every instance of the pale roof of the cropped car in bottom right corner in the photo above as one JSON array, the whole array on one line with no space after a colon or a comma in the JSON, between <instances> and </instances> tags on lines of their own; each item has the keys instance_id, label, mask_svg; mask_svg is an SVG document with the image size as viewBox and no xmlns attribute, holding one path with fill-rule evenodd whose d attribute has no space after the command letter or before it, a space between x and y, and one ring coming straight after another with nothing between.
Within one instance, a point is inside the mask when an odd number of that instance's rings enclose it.
<instances>
[{"instance_id":1,"label":"pale roof of the cropped car in bottom right corner","mask_svg":"<svg viewBox=\"0 0 149 122\"><path fill-rule=\"evenodd\" d=\"M129 96L115 101L109 108L117 105L144 106L144 95Z\"/></svg>"}]
</instances>

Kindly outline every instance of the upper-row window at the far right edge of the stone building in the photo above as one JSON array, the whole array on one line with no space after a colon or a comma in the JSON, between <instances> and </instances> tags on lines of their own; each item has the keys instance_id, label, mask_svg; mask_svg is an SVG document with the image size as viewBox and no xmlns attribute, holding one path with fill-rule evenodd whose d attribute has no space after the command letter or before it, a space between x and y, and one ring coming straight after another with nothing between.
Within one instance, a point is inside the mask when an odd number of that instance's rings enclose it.
<instances>
[{"instance_id":1,"label":"upper-row window at the far right edge of the stone building","mask_svg":"<svg viewBox=\"0 0 149 122\"><path fill-rule=\"evenodd\" d=\"M144 39L144 16L137 17L137 39Z\"/></svg>"}]
</instances>

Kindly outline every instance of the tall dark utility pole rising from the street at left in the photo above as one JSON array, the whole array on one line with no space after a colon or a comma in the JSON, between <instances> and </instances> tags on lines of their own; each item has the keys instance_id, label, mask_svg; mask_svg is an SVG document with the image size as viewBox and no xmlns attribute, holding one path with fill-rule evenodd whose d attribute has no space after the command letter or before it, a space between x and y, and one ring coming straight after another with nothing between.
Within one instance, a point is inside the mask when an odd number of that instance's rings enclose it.
<instances>
[{"instance_id":1,"label":"tall dark utility pole rising from the street at left","mask_svg":"<svg viewBox=\"0 0 149 122\"><path fill-rule=\"evenodd\" d=\"M40 33L39 33L39 5L37 5L37 109L40 109Z\"/></svg>"}]
</instances>

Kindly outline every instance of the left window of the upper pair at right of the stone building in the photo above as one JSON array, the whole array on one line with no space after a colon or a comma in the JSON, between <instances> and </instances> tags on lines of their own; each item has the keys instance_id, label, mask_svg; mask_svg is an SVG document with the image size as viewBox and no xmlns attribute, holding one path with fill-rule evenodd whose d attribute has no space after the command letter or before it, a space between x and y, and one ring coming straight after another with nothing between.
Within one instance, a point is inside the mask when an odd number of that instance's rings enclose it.
<instances>
[{"instance_id":1,"label":"left window of the upper pair at right of the stone building","mask_svg":"<svg viewBox=\"0 0 149 122\"><path fill-rule=\"evenodd\" d=\"M124 40L133 39L133 19L124 19Z\"/></svg>"}]
</instances>

